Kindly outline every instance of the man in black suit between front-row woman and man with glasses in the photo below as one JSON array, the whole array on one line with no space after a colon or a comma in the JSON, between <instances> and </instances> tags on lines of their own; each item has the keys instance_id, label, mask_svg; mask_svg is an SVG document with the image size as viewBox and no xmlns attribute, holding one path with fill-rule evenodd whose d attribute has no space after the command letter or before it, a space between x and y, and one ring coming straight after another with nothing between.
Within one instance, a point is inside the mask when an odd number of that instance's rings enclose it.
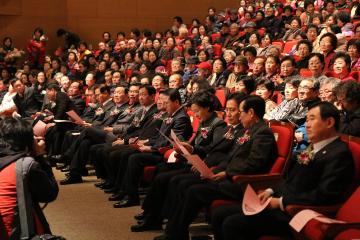
<instances>
[{"instance_id":1,"label":"man in black suit between front-row woman and man with glasses","mask_svg":"<svg viewBox=\"0 0 360 240\"><path fill-rule=\"evenodd\" d=\"M244 95L241 93L231 94L228 97L226 117L229 125L225 128L216 128L218 130L214 134L212 141L193 145L183 143L189 152L198 154L210 168L217 166L221 161L228 161L232 150L235 149L235 140L243 134L243 127L239 120L239 104L243 97ZM164 165L167 165L167 167L165 168ZM141 232L159 229L162 225L162 217L166 218L169 215L167 212L172 211L174 208L173 200L178 192L175 190L179 184L178 182L186 181L188 187L204 181L201 179L200 174L197 171L194 172L194 169L190 170L189 166L175 170L171 169L177 168L178 165L164 163L157 166L156 176L142 204L144 212L136 216L136 219L141 220L141 222L132 226L131 231ZM162 215L162 209L164 216Z\"/></svg>"}]
</instances>

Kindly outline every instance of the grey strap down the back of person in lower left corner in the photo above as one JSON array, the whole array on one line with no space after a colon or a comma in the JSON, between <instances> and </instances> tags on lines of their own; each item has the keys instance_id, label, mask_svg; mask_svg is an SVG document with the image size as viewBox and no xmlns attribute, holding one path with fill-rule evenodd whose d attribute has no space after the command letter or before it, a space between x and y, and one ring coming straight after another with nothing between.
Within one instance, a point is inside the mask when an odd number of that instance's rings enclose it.
<instances>
[{"instance_id":1,"label":"grey strap down the back of person in lower left corner","mask_svg":"<svg viewBox=\"0 0 360 240\"><path fill-rule=\"evenodd\" d=\"M36 235L35 223L32 215L32 201L27 178L24 177L23 159L16 161L16 192L21 229L21 240L65 240L61 236L52 234Z\"/></svg>"}]
</instances>

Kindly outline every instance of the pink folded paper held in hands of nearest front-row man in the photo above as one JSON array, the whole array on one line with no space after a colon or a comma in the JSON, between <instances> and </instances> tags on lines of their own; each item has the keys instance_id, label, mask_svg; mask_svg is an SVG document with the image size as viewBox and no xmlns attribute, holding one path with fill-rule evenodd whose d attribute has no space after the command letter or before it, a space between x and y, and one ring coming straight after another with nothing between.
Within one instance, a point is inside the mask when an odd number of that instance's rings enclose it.
<instances>
[{"instance_id":1,"label":"pink folded paper held in hands of nearest front-row man","mask_svg":"<svg viewBox=\"0 0 360 240\"><path fill-rule=\"evenodd\" d=\"M261 204L260 198L250 184L246 186L242 202L242 210L245 215L255 215L264 210L269 205L271 197Z\"/></svg>"}]
</instances>

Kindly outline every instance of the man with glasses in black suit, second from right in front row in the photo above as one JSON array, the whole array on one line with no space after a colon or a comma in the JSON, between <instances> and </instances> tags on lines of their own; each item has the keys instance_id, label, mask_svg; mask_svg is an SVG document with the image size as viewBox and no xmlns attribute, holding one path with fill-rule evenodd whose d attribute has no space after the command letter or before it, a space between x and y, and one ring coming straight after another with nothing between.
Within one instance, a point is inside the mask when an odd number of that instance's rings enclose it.
<instances>
[{"instance_id":1,"label":"man with glasses in black suit, second from right in front row","mask_svg":"<svg viewBox=\"0 0 360 240\"><path fill-rule=\"evenodd\" d=\"M247 96L240 104L240 121L245 129L236 139L237 146L226 167L220 167L210 182L191 186L177 199L173 214L169 216L165 234L159 239L189 239L188 228L199 211L215 199L240 200L240 184L232 177L240 174L267 173L278 155L275 137L262 119L265 101L258 96ZM175 189L176 190L176 189Z\"/></svg>"}]
</instances>

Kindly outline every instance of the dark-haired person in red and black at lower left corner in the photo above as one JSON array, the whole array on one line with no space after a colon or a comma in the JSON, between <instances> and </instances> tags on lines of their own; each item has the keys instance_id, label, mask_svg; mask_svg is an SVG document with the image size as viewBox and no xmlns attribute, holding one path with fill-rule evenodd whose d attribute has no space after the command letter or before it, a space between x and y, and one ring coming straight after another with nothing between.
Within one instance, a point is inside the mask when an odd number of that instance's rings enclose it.
<instances>
[{"instance_id":1,"label":"dark-haired person in red and black at lower left corner","mask_svg":"<svg viewBox=\"0 0 360 240\"><path fill-rule=\"evenodd\" d=\"M21 141L19 141L21 139ZM5 118L0 122L0 237L1 240L20 239L17 212L16 160L26 172L23 173L30 192L36 234L50 233L49 225L39 202L56 199L58 186L50 165L42 159L45 145L34 143L31 125L25 120ZM33 157L34 158L33 158Z\"/></svg>"}]
</instances>

